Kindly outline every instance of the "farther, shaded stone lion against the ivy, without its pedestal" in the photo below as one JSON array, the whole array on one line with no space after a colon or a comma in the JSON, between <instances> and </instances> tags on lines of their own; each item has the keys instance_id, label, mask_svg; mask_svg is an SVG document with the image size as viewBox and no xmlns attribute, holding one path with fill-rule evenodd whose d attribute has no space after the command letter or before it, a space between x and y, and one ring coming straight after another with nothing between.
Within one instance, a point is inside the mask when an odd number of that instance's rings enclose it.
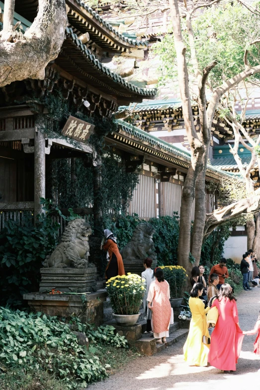
<instances>
[{"instance_id":1,"label":"farther, shaded stone lion against the ivy, without its pedestal","mask_svg":"<svg viewBox=\"0 0 260 390\"><path fill-rule=\"evenodd\" d=\"M149 223L137 225L132 240L120 252L122 259L125 261L144 260L148 255L153 260L156 260L153 242L154 232L154 227Z\"/></svg>"}]
</instances>

